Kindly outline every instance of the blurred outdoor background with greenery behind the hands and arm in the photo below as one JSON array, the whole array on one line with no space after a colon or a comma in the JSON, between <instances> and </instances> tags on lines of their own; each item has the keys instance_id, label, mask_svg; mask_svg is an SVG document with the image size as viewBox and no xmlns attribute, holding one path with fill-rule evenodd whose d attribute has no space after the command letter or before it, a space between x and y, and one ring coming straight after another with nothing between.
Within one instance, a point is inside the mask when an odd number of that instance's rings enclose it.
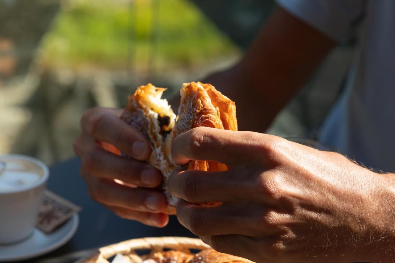
<instances>
[{"instance_id":1,"label":"blurred outdoor background with greenery behind the hands and arm","mask_svg":"<svg viewBox=\"0 0 395 263\"><path fill-rule=\"evenodd\" d=\"M148 82L177 96L235 63L271 0L0 0L0 154L72 156L79 118ZM267 131L315 137L357 41L335 48Z\"/></svg>"}]
</instances>

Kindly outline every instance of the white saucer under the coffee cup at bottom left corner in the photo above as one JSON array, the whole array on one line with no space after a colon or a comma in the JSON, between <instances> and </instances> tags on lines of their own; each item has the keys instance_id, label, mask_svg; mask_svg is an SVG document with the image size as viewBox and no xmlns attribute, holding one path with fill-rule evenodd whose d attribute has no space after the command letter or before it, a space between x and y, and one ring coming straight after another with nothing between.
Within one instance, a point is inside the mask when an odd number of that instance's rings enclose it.
<instances>
[{"instance_id":1,"label":"white saucer under the coffee cup at bottom left corner","mask_svg":"<svg viewBox=\"0 0 395 263\"><path fill-rule=\"evenodd\" d=\"M49 235L34 229L33 233L21 242L0 245L0 262L28 259L55 250L73 237L78 222L78 214L75 214L66 224Z\"/></svg>"}]
</instances>

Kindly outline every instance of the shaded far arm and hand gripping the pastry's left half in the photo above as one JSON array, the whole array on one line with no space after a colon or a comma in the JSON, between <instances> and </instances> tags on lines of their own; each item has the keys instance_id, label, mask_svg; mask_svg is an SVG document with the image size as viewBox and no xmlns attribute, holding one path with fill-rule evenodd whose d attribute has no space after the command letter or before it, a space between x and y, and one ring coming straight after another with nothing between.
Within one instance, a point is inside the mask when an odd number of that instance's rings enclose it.
<instances>
[{"instance_id":1,"label":"shaded far arm and hand gripping the pastry's left half","mask_svg":"<svg viewBox=\"0 0 395 263\"><path fill-rule=\"evenodd\" d=\"M287 48L286 43L290 43L295 36L299 38ZM280 44L282 48L279 48ZM278 9L240 63L213 74L203 82L213 83L218 90L236 101L240 130L263 131L333 45L333 41L317 30ZM270 62L274 58L275 64ZM283 65L289 65L287 70ZM262 96L263 93L265 96ZM177 109L178 105L179 98L176 98L173 109ZM252 109L264 113L259 122L252 119L255 116L251 114ZM160 214L166 200L153 189L162 180L160 173L153 170L147 176L151 177L151 182L142 183L142 171L148 165L141 161L149 156L149 143L134 128L119 120L121 113L121 109L94 108L81 117L81 135L74 142L75 152L83 161L81 175L87 181L94 200L123 218L162 227L168 220L166 215ZM134 141L143 143L137 154L131 152ZM102 142L112 143L134 159L126 160L110 154L103 149ZM112 179L124 179L124 182L134 183L140 188L126 189L114 184ZM143 197L133 198L137 195ZM132 198L135 203L125 204L125 200ZM152 209L144 205L145 201L152 205Z\"/></svg>"}]
</instances>

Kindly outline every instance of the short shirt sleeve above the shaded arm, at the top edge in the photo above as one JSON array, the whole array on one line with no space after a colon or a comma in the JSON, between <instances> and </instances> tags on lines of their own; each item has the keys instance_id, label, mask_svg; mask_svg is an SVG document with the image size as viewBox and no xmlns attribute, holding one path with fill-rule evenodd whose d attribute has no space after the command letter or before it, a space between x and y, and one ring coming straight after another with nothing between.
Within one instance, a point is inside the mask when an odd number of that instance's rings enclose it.
<instances>
[{"instance_id":1,"label":"short shirt sleeve above the shaded arm, at the top edge","mask_svg":"<svg viewBox=\"0 0 395 263\"><path fill-rule=\"evenodd\" d=\"M295 17L343 42L355 33L365 14L366 0L276 0Z\"/></svg>"}]
</instances>

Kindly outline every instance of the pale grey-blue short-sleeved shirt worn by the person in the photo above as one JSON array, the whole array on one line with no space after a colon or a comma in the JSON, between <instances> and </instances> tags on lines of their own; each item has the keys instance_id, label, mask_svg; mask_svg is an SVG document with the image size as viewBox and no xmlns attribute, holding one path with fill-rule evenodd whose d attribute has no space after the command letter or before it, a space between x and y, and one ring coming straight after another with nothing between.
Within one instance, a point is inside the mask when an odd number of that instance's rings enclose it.
<instances>
[{"instance_id":1,"label":"pale grey-blue short-sleeved shirt worn by the person","mask_svg":"<svg viewBox=\"0 0 395 263\"><path fill-rule=\"evenodd\" d=\"M344 41L365 19L346 88L320 141L368 167L395 171L395 0L277 0L327 36Z\"/></svg>"}]
</instances>

